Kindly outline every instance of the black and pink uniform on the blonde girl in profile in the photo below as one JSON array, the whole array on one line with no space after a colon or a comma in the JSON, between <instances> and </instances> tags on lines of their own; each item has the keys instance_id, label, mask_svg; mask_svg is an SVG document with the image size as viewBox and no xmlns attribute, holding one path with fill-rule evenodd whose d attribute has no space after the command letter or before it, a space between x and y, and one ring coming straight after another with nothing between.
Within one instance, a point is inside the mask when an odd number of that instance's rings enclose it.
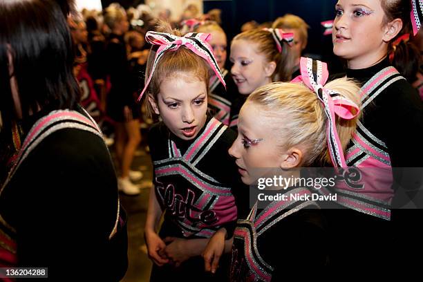
<instances>
[{"instance_id":1,"label":"black and pink uniform on the blonde girl in profile","mask_svg":"<svg viewBox=\"0 0 423 282\"><path fill-rule=\"evenodd\" d=\"M319 204L291 198L310 195L303 187L289 187L286 200L274 200L263 209L258 203L245 220L238 220L230 281L283 281L287 276L316 276L310 270L326 265L328 237ZM263 203L262 203L263 204Z\"/></svg>"}]
</instances>

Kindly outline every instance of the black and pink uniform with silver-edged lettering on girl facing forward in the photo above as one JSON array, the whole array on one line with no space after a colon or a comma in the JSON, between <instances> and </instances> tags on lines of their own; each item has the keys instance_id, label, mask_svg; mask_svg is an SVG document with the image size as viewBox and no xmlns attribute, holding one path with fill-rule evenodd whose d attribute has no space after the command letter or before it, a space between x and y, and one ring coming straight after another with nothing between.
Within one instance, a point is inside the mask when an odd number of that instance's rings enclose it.
<instances>
[{"instance_id":1,"label":"black and pink uniform with silver-edged lettering on girl facing forward","mask_svg":"<svg viewBox=\"0 0 423 282\"><path fill-rule=\"evenodd\" d=\"M207 118L196 138L188 141L177 138L162 122L151 128L153 182L164 211L160 238L210 238L220 227L232 236L239 200L234 194L248 191L227 153L235 139L235 133L215 118ZM241 214L242 210L247 209L238 205ZM207 274L198 256L177 268L153 265L151 281L214 281L226 276L224 269L220 267L217 276Z\"/></svg>"}]
</instances>

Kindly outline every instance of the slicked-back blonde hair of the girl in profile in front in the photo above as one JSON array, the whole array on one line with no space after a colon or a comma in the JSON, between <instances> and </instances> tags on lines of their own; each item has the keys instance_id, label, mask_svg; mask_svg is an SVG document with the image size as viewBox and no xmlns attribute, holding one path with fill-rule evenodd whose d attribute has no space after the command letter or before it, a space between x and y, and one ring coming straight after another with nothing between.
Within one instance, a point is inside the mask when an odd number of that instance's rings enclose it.
<instances>
[{"instance_id":1,"label":"slicked-back blonde hair of the girl in profile in front","mask_svg":"<svg viewBox=\"0 0 423 282\"><path fill-rule=\"evenodd\" d=\"M325 88L341 93L359 105L359 86L346 77L328 82ZM304 148L300 165L306 167L315 161L330 162L326 138L327 117L324 106L314 91L300 83L274 82L257 88L247 101L259 104L263 115L274 120L270 126L281 135L283 149L294 146ZM345 149L355 127L358 116L353 120L337 118L337 131L342 148Z\"/></svg>"}]
</instances>

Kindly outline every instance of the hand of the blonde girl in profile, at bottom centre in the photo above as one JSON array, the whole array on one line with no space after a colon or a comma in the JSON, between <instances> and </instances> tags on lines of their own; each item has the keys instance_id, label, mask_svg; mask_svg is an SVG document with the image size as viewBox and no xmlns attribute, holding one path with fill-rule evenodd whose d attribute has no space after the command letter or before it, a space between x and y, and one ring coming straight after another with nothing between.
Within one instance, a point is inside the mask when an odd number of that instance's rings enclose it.
<instances>
[{"instance_id":1,"label":"hand of the blonde girl in profile, at bottom centre","mask_svg":"<svg viewBox=\"0 0 423 282\"><path fill-rule=\"evenodd\" d=\"M212 238L210 238L207 247L205 247L203 259L206 272L216 273L220 256L222 256L225 251L225 236L226 229L218 229Z\"/></svg>"}]
</instances>

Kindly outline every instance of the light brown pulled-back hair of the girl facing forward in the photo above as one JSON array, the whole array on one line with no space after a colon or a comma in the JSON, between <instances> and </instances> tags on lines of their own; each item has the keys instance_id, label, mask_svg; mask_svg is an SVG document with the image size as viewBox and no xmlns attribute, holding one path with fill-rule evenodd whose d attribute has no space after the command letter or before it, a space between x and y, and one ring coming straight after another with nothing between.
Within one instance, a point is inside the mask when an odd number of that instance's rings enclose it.
<instances>
[{"instance_id":1,"label":"light brown pulled-back hair of the girl facing forward","mask_svg":"<svg viewBox=\"0 0 423 282\"><path fill-rule=\"evenodd\" d=\"M172 30L169 23L164 21L160 21L156 30L158 32L167 32L176 36L182 36L178 30ZM151 47L149 58L147 59L147 71L145 73L146 83L151 73L151 68L153 68L157 49L158 46ZM160 84L162 84L163 80L180 77L181 75L183 75L184 79L190 77L191 79L198 79L201 82L205 82L208 94L211 74L212 70L205 59L196 55L184 46L180 46L178 50L167 51L162 55L156 65L153 75L151 76L149 86L144 96L150 95L157 101L157 95L160 93ZM147 115L151 117L154 113L153 108L148 99L145 99L144 101L147 109Z\"/></svg>"}]
</instances>

